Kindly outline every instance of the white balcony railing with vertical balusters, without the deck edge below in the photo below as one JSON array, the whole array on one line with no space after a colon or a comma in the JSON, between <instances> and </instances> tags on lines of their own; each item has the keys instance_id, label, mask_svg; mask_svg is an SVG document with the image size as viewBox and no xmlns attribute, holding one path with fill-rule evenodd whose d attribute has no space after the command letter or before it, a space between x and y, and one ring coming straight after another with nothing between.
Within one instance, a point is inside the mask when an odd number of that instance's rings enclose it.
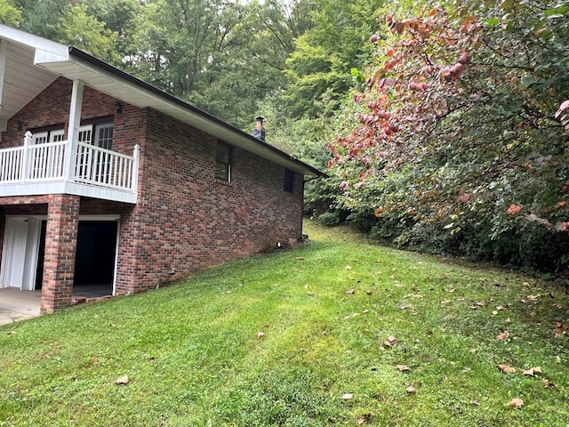
<instances>
[{"instance_id":1,"label":"white balcony railing with vertical balusters, without the deck edge below","mask_svg":"<svg viewBox=\"0 0 569 427\"><path fill-rule=\"evenodd\" d=\"M65 181L68 141L31 143L26 134L23 147L0 149L0 185ZM75 173L68 181L136 193L140 148L132 156L79 142L75 153ZM71 163L71 162L69 162Z\"/></svg>"}]
</instances>

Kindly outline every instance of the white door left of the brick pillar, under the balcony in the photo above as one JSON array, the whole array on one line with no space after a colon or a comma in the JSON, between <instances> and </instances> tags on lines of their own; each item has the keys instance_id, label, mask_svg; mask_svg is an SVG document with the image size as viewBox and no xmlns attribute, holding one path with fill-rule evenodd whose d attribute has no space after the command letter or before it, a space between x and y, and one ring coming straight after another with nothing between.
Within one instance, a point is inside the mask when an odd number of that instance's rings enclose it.
<instances>
[{"instance_id":1,"label":"white door left of the brick pillar, under the balcony","mask_svg":"<svg viewBox=\"0 0 569 427\"><path fill-rule=\"evenodd\" d=\"M36 218L7 217L2 254L2 287L34 290L41 222Z\"/></svg>"}]
</instances>

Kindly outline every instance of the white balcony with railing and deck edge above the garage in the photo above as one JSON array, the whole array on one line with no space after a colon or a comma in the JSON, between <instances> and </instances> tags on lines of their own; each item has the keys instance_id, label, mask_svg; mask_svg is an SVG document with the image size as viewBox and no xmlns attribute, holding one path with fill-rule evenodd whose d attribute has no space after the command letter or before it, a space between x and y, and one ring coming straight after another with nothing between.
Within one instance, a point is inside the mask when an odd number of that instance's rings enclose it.
<instances>
[{"instance_id":1,"label":"white balcony with railing and deck edge above the garage","mask_svg":"<svg viewBox=\"0 0 569 427\"><path fill-rule=\"evenodd\" d=\"M0 197L74 194L136 203L140 148L132 156L69 141L0 149Z\"/></svg>"}]
</instances>

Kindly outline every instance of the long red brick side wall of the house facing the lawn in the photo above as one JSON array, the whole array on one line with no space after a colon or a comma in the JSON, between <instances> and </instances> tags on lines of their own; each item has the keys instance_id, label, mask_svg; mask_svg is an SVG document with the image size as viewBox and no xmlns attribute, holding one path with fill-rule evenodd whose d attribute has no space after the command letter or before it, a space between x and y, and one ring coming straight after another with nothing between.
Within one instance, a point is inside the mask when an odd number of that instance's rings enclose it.
<instances>
[{"instance_id":1,"label":"long red brick side wall of the house facing the lawn","mask_svg":"<svg viewBox=\"0 0 569 427\"><path fill-rule=\"evenodd\" d=\"M231 141L226 141L229 144ZM284 167L234 149L230 183L214 179L217 140L148 112L140 174L141 288L301 238L302 177L284 191Z\"/></svg>"}]
</instances>

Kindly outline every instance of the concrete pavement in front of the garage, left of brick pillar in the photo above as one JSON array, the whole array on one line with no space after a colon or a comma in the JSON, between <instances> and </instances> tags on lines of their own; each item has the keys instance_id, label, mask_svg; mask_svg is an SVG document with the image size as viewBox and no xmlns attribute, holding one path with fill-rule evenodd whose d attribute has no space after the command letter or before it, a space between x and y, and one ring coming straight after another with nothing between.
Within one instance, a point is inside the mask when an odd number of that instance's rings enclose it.
<instances>
[{"instance_id":1,"label":"concrete pavement in front of the garage, left of brick pillar","mask_svg":"<svg viewBox=\"0 0 569 427\"><path fill-rule=\"evenodd\" d=\"M39 316L42 291L0 289L0 325Z\"/></svg>"}]
</instances>

